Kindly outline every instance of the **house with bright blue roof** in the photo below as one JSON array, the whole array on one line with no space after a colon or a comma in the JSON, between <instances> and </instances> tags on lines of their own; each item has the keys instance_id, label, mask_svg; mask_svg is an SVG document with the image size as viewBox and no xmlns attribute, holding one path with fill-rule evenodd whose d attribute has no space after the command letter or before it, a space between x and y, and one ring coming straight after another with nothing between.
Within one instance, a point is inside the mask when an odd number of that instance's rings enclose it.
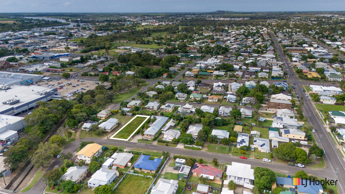
<instances>
[{"instance_id":1,"label":"house with bright blue roof","mask_svg":"<svg viewBox=\"0 0 345 194\"><path fill-rule=\"evenodd\" d=\"M150 160L150 156L141 155L138 161L135 163L134 168L136 171L152 174L156 173L161 162L162 159L160 158Z\"/></svg>"}]
</instances>

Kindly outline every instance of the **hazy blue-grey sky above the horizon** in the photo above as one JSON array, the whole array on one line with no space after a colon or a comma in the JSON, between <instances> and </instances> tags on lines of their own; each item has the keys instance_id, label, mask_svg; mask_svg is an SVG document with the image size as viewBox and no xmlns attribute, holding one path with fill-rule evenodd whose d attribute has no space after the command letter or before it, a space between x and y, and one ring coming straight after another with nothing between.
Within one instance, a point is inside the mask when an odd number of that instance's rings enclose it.
<instances>
[{"instance_id":1,"label":"hazy blue-grey sky above the horizon","mask_svg":"<svg viewBox=\"0 0 345 194\"><path fill-rule=\"evenodd\" d=\"M0 12L344 11L345 0L0 0Z\"/></svg>"}]
</instances>

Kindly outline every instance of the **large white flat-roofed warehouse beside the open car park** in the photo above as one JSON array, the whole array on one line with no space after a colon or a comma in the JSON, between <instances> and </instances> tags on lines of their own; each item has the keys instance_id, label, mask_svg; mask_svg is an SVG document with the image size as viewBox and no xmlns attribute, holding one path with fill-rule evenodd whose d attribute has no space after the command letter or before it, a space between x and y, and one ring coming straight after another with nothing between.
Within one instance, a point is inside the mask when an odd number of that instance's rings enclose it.
<instances>
[{"instance_id":1,"label":"large white flat-roofed warehouse beside the open car park","mask_svg":"<svg viewBox=\"0 0 345 194\"><path fill-rule=\"evenodd\" d=\"M51 100L57 92L57 88L12 85L10 89L0 90L0 114L19 114L36 106L38 101Z\"/></svg>"}]
</instances>

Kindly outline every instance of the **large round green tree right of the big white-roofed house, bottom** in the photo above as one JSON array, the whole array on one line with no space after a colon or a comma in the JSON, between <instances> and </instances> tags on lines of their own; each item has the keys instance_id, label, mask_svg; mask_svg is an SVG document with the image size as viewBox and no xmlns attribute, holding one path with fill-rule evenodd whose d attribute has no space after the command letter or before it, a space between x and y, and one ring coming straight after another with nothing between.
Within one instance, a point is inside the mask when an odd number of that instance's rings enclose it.
<instances>
[{"instance_id":1,"label":"large round green tree right of the big white-roofed house, bottom","mask_svg":"<svg viewBox=\"0 0 345 194\"><path fill-rule=\"evenodd\" d=\"M268 168L255 167L254 169L254 185L260 189L271 188L272 184L276 182L276 174Z\"/></svg>"}]
</instances>

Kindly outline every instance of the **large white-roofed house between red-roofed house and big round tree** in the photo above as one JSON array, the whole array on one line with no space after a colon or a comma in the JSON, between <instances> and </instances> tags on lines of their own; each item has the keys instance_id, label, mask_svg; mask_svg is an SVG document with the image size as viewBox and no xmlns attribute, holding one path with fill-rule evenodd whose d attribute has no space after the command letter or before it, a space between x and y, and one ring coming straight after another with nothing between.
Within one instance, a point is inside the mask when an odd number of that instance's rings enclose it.
<instances>
[{"instance_id":1,"label":"large white-roofed house between red-roofed house and big round tree","mask_svg":"<svg viewBox=\"0 0 345 194\"><path fill-rule=\"evenodd\" d=\"M250 164L232 162L227 165L226 176L238 185L254 185L254 169Z\"/></svg>"}]
</instances>

